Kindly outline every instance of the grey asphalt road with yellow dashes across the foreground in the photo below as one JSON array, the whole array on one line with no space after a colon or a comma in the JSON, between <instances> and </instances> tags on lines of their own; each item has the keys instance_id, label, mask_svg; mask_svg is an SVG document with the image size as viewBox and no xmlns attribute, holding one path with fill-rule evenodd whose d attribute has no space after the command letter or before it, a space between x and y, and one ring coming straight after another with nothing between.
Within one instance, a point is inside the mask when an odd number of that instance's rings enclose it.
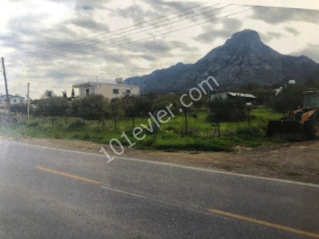
<instances>
[{"instance_id":1,"label":"grey asphalt road with yellow dashes across the foreground","mask_svg":"<svg viewBox=\"0 0 319 239\"><path fill-rule=\"evenodd\" d=\"M0 145L0 239L319 238L319 185Z\"/></svg>"}]
</instances>

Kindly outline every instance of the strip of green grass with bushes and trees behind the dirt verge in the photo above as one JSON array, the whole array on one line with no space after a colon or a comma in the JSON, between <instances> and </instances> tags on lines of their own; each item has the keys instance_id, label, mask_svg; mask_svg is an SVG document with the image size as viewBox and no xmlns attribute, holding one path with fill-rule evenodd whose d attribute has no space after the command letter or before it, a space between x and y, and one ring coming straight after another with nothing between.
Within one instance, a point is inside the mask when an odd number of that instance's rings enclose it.
<instances>
[{"instance_id":1,"label":"strip of green grass with bushes and trees behind the dirt verge","mask_svg":"<svg viewBox=\"0 0 319 239\"><path fill-rule=\"evenodd\" d=\"M13 120L2 120L0 135L78 139L101 145L117 138L128 146L129 142L121 137L125 132L136 142L134 147L140 149L232 151L236 146L278 142L264 137L267 122L283 118L285 112L302 106L306 88L289 86L275 96L271 87L245 86L241 92L254 93L259 99L253 109L246 107L242 99L208 101L202 97L190 108L183 108L183 113L178 111L182 108L179 95L123 96L109 101L100 95L77 99L74 94L67 98L63 92L62 97L56 97L53 91L46 91L42 99L32 101L29 119L25 105L11 106ZM133 129L142 123L148 125L149 112L165 109L170 104L175 117L162 123L157 133L146 131L146 137L137 141Z\"/></svg>"}]
</instances>

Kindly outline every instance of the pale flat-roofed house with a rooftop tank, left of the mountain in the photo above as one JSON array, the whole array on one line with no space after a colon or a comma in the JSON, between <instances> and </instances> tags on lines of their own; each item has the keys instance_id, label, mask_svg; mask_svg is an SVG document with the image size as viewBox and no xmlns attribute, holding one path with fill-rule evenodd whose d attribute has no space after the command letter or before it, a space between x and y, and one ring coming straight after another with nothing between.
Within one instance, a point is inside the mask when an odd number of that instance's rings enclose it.
<instances>
[{"instance_id":1,"label":"pale flat-roofed house with a rooftop tank, left of the mountain","mask_svg":"<svg viewBox=\"0 0 319 239\"><path fill-rule=\"evenodd\" d=\"M102 95L105 98L113 99L125 95L140 94L140 87L123 84L122 78L115 79L116 84L100 83L100 82L86 82L72 85L73 88L79 89L79 97L85 98L89 95Z\"/></svg>"}]
</instances>

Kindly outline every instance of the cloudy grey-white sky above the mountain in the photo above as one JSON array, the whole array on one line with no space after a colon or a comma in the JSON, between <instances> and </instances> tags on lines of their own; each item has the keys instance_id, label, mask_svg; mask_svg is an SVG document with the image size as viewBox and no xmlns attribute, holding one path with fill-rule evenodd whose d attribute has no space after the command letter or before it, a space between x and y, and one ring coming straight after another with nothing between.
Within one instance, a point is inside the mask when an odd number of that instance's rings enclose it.
<instances>
[{"instance_id":1,"label":"cloudy grey-white sky above the mountain","mask_svg":"<svg viewBox=\"0 0 319 239\"><path fill-rule=\"evenodd\" d=\"M75 83L194 63L247 28L282 54L319 63L317 0L307 6L314 9L207 1L1 0L0 56L9 94L24 97L30 82L32 99L47 89L70 95Z\"/></svg>"}]
</instances>

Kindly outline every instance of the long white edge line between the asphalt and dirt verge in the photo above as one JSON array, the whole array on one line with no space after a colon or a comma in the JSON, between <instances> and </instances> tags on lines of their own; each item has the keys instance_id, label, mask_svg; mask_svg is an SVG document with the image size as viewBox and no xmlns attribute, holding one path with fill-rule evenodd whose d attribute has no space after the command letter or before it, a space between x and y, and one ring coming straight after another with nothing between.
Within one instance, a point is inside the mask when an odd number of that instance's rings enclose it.
<instances>
[{"instance_id":1,"label":"long white edge line between the asphalt and dirt verge","mask_svg":"<svg viewBox=\"0 0 319 239\"><path fill-rule=\"evenodd\" d=\"M85 155L91 155L91 156L105 157L104 154L87 153L87 152L81 152L81 151L75 151L75 150L69 150L69 149L53 148L53 147L47 147L47 146L41 146L41 145L35 145L35 144L29 144L29 143L12 142L12 141L5 141L5 140L0 140L0 142L13 143L13 144L25 145L25 146L29 146L29 147L43 148L43 149L51 149L51 150L57 150L57 151L62 151L62 152L79 153L79 154L85 154ZM184 168L184 169L189 169L189 170L197 170L197 171L203 171L203 172L225 174L225 175L230 175L230 176L254 178L254 179L261 179L261 180L267 180L267 181L273 181L273 182L288 183L288 184L295 184L295 185L300 185L300 186L319 188L319 184L304 183L304 182L292 181L292 180L287 180L287 179L267 178L267 177L262 177L262 176L255 176L255 175L248 175L248 174L241 174L241 173L219 171L219 170L214 170L214 169L206 169L206 168L184 166L184 165L179 165L179 164L174 164L174 163L159 162L159 161L152 161L152 160L144 160L144 159L137 159L137 158L116 157L116 159L122 159L122 160L129 160L129 161L135 161L135 162L157 164L157 165L170 166L170 167L176 167L176 168Z\"/></svg>"}]
</instances>

